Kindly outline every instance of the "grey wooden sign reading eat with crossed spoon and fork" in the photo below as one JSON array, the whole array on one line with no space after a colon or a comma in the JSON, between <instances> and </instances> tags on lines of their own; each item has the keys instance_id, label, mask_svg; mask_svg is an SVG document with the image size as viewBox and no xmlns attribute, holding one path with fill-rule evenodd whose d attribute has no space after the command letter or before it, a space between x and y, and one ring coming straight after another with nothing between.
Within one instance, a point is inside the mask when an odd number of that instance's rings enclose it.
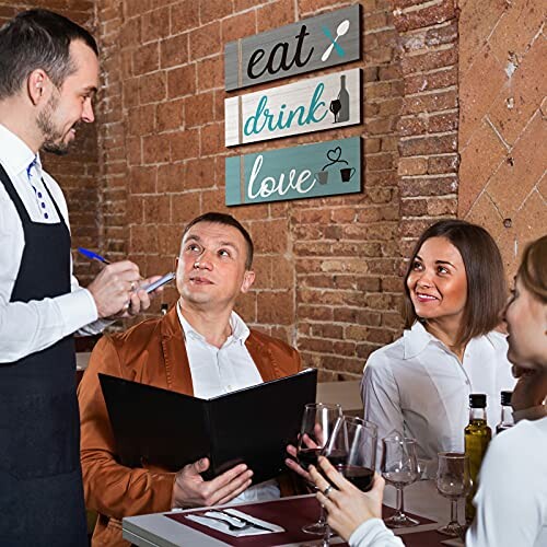
<instances>
[{"instance_id":1,"label":"grey wooden sign reading eat with crossed spoon and fork","mask_svg":"<svg viewBox=\"0 0 547 547\"><path fill-rule=\"evenodd\" d=\"M356 4L230 42L224 48L226 91L357 60L360 37Z\"/></svg>"}]
</instances>

